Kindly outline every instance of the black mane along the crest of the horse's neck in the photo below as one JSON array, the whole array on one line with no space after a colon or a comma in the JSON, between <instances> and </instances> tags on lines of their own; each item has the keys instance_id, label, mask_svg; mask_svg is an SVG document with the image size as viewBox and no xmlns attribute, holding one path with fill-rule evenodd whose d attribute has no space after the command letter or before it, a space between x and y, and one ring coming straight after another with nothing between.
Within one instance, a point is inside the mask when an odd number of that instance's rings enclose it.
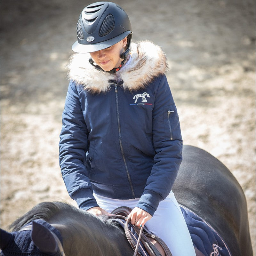
<instances>
[{"instance_id":1,"label":"black mane along the crest of the horse's neck","mask_svg":"<svg viewBox=\"0 0 256 256\"><path fill-rule=\"evenodd\" d=\"M15 220L9 228L12 231L18 231L20 228L23 226L27 225L29 222L32 220L36 219L42 219L45 221L49 221L53 216L57 215L58 213L66 214L67 216L74 216L76 214L79 217L86 217L89 213L80 210L76 208L75 206L64 203L64 202L42 202L34 206L30 211L25 213L23 216ZM72 215L70 215L72 213ZM99 217L96 216L91 216L95 217L98 220L101 220L104 225L107 225L109 228L110 227L116 227L118 224L113 222L112 220L108 219L108 216L106 215L101 215Z\"/></svg>"}]
</instances>

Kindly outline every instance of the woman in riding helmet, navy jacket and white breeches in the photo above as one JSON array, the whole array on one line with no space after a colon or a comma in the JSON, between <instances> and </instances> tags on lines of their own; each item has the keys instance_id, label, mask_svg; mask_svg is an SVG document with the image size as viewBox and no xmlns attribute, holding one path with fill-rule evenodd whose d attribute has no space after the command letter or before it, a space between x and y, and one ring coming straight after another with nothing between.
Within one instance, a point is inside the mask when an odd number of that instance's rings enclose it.
<instances>
[{"instance_id":1,"label":"woman in riding helmet, navy jacket and white breeches","mask_svg":"<svg viewBox=\"0 0 256 256\"><path fill-rule=\"evenodd\" d=\"M128 206L174 256L195 255L171 191L182 139L164 52L148 41L131 52L129 18L110 2L88 5L76 32L60 134L69 195L95 215Z\"/></svg>"}]
</instances>

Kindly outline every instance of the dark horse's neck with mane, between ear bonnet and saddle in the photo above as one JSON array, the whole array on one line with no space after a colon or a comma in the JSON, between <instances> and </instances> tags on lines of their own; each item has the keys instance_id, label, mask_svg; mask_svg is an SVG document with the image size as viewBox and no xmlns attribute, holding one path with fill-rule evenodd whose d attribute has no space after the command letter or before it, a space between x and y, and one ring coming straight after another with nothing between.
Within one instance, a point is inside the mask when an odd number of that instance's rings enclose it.
<instances>
[{"instance_id":1,"label":"dark horse's neck with mane, between ear bonnet and saddle","mask_svg":"<svg viewBox=\"0 0 256 256\"><path fill-rule=\"evenodd\" d=\"M66 255L81 255L79 253L83 244L91 253L86 255L129 255L126 251L129 252L131 247L123 229L107 215L95 216L68 203L42 202L15 220L9 228L19 231L36 219L45 220L60 231L65 240ZM126 241L122 246L117 242L121 237Z\"/></svg>"}]
</instances>

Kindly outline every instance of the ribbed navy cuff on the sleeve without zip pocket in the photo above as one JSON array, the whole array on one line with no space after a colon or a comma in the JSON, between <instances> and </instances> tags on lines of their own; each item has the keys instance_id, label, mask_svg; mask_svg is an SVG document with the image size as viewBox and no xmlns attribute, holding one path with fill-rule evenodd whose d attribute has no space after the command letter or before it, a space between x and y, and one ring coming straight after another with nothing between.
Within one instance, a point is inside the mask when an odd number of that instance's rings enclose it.
<instances>
[{"instance_id":1,"label":"ribbed navy cuff on the sleeve without zip pocket","mask_svg":"<svg viewBox=\"0 0 256 256\"><path fill-rule=\"evenodd\" d=\"M76 191L72 198L76 200L76 203L79 209L89 210L92 207L99 206L92 194L92 190L90 188L82 188Z\"/></svg>"}]
</instances>

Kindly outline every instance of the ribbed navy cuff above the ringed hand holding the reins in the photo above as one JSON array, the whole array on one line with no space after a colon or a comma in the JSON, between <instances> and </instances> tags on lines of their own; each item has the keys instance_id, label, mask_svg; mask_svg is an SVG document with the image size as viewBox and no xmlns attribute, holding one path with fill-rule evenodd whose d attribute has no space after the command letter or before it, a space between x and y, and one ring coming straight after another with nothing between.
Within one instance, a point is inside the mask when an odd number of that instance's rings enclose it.
<instances>
[{"instance_id":1,"label":"ribbed navy cuff above the ringed hand holding the reins","mask_svg":"<svg viewBox=\"0 0 256 256\"><path fill-rule=\"evenodd\" d=\"M162 200L163 197L156 192L145 189L136 207L139 207L153 216Z\"/></svg>"}]
</instances>

